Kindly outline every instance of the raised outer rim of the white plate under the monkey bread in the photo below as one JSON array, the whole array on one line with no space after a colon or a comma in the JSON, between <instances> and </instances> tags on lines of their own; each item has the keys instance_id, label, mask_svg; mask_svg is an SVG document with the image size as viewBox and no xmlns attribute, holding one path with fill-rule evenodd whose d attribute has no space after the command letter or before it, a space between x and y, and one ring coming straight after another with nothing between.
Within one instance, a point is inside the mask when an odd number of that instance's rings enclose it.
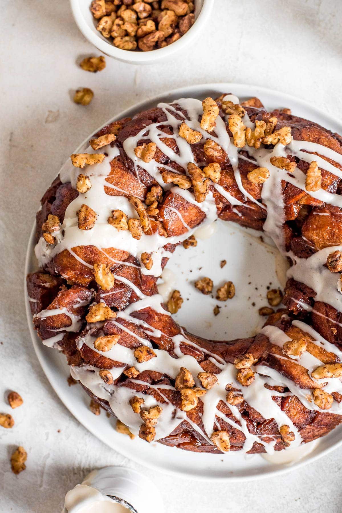
<instances>
[{"instance_id":1,"label":"raised outer rim of the white plate under the monkey bread","mask_svg":"<svg viewBox=\"0 0 342 513\"><path fill-rule=\"evenodd\" d=\"M256 96L257 94L274 95L274 96L279 97L279 101L281 101L281 102L289 101L290 103L294 103L294 104L303 106L306 109L309 109L310 112L312 112L314 115L322 117L323 119L326 119L328 126L336 125L337 127L339 127L339 130L342 132L342 122L339 121L337 119L337 117L335 117L334 115L331 115L315 106L312 106L309 102L302 100L301 98L298 98L297 96L294 96L294 95L291 95L288 93L283 93L281 91L275 91L274 89L257 86L257 85L250 85L250 84L243 84L243 83L231 83L231 82L228 82L228 83L227 82L222 82L222 83L213 82L213 83L208 83L208 84L196 84L196 85L192 85L192 86L178 87L178 88L172 89L170 91L167 91L165 93L160 93L156 96L153 96L152 98L148 98L147 100L138 102L137 104L133 104L131 107L128 107L124 111L119 112L117 115L111 117L110 120L106 121L100 128L96 129L96 131L93 131L92 134L90 136L88 136L81 143L81 145L78 146L78 148L75 151L77 152L79 148L82 148L85 144L87 144L89 141L89 138L93 135L93 133L96 133L97 131L101 130L103 127L107 126L109 123L112 123L113 121L116 121L116 120L122 119L123 117L129 116L133 112L138 113L139 111L141 111L143 109L149 108L148 107L149 104L155 105L156 103L161 102L161 101L166 102L166 101L170 100L170 98L169 98L170 96L177 95L178 97L180 97L179 95L187 95L187 93L190 91L192 92L192 95L197 95L197 96L202 95L203 96L203 92L208 89L218 89L221 91L226 90L227 93L228 92L236 93L237 90L239 90L240 95L244 95L244 93L241 93L241 91L243 91L243 90L246 91L246 95L254 95L254 96ZM202 94L201 94L201 91L202 91ZM176 99L176 98L174 98L174 99ZM279 108L280 107L281 106L279 105ZM184 476L188 479L196 479L199 481L203 480L203 481L215 481L215 482L216 481L244 482L244 481L255 481L255 480L259 480L259 479L266 479L266 478L270 478L270 477L285 475L286 473L288 473L292 470L297 470L311 462L317 461L319 458L328 455L329 452L331 452L332 450L334 450L337 447L340 447L342 445L342 437L341 437L340 440L333 442L331 445L329 445L328 447L326 447L323 450L318 451L316 454L309 453L309 455L307 455L307 457L300 459L297 462L294 462L292 464L279 464L278 467L274 468L274 466L273 466L269 470L266 467L265 470L263 469L262 473L254 474L254 475L250 475L250 476L248 476L248 475L247 476L240 476L240 475L234 476L234 475L228 474L227 476L222 476L222 477L211 476L210 474L208 476L189 474L188 472L183 471L183 470L168 468L163 465L157 465L154 462L151 462L149 460L145 460L142 457L137 456L134 453L134 450L127 451L123 447L113 448L113 446L108 444L108 442L106 442L106 440L101 436L101 433L96 432L96 429L95 429L95 427L93 427L92 424L90 424L84 418L82 418L82 419L79 418L79 416L76 415L76 413L74 413L74 411L72 409L72 402L71 402L72 395L70 394L70 400L69 400L69 397L68 398L65 397L63 391L61 391L61 389L58 388L58 386L54 383L53 376L50 374L50 370L48 368L48 364L46 362L44 352L43 352L44 346L42 344L41 339L38 338L38 336L33 328L29 296L28 296L28 291L27 291L27 287L26 287L26 277L27 277L27 274L29 273L29 268L31 267L32 249L34 247L34 235L35 235L35 221L33 223L33 227L32 227L32 230L31 230L31 233L29 236L27 252L26 252L26 257L25 257L24 299L25 299L25 308L26 308L26 317L27 317L28 327L29 327L29 331L30 331L33 348L36 353L36 357L37 357L38 362L41 365L41 367L45 373L45 376L46 376L47 380L49 381L52 389L56 393L59 400L61 400L61 402L64 404L64 406L70 411L70 413L73 415L73 417L75 417L75 419L80 424L82 424L88 431L90 431L92 433L92 435L94 435L97 439L99 439L100 441L102 441L103 443L105 443L106 445L111 447L113 450L118 452L120 455L122 455L130 460L133 460L134 462L136 462L140 465L143 465L145 467L148 467L150 469L155 469L155 470L159 470L159 471L162 470L163 472L165 472L168 475L176 475L178 477ZM338 426L335 429L337 429L337 428L338 428ZM335 430L333 430L331 432L335 432ZM329 434L330 433L328 433L327 436L329 436ZM321 440L326 440L326 437L322 437L321 439L318 439L318 443ZM315 447L314 450L316 450L317 447ZM178 449L178 450L180 451L180 449ZM200 454L200 453L198 453L198 454Z\"/></svg>"}]
</instances>

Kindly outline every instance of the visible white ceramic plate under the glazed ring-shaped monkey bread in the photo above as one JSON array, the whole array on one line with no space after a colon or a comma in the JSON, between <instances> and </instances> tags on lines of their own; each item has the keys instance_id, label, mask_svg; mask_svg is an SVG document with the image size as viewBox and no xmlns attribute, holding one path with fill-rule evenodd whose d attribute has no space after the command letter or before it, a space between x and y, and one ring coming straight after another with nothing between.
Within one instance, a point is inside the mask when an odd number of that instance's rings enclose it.
<instances>
[{"instance_id":1,"label":"visible white ceramic plate under the glazed ring-shaped monkey bread","mask_svg":"<svg viewBox=\"0 0 342 513\"><path fill-rule=\"evenodd\" d=\"M243 84L208 84L177 89L140 103L118 114L105 125L122 117L133 116L139 111L155 106L160 101L170 102L187 96L200 99L206 96L217 97L222 92L232 92L240 100L258 96L268 109L288 107L298 116L306 117L334 132L342 133L342 124L338 120L304 101L269 89ZM96 131L97 129L93 133ZM89 139L90 137L87 137L76 152L84 151ZM217 230L212 238L199 240L196 248L190 248L184 252L182 246L178 247L167 268L177 277L173 288L176 286L185 299L175 319L185 325L189 331L208 339L231 340L255 333L260 325L257 310L266 304L266 286L269 284L272 287L279 286L284 278L284 272L281 271L279 262L276 262L275 249L260 240L261 233L240 229L230 223L218 221L216 224ZM25 275L37 268L33 248L34 228L27 250ZM227 260L224 268L220 268L221 260ZM216 317L213 315L216 301L210 296L200 294L193 286L193 282L203 276L209 276L215 287L227 280L231 280L236 287L235 298L219 305L222 308ZM222 456L208 455L182 451L158 443L148 445L138 438L132 441L114 430L113 419L108 419L104 412L99 417L91 413L89 397L81 386L71 388L68 386L69 370L65 357L58 351L45 347L37 337L32 325L26 292L25 299L34 349L58 397L94 436L142 465L196 479L258 479L298 468L327 454L342 443L342 426L340 426L318 442L313 442L311 447L307 444L306 452L308 452L307 449L312 448L311 452L302 453L301 460L289 465L266 461L261 455L244 456L236 452Z\"/></svg>"}]
</instances>

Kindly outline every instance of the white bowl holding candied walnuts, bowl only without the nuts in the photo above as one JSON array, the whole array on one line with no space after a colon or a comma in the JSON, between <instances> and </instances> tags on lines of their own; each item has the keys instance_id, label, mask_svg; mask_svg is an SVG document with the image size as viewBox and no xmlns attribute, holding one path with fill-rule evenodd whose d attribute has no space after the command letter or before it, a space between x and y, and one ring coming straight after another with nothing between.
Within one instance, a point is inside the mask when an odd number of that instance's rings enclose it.
<instances>
[{"instance_id":1,"label":"white bowl holding candied walnuts, bowl only without the nuts","mask_svg":"<svg viewBox=\"0 0 342 513\"><path fill-rule=\"evenodd\" d=\"M120 50L116 48L113 43L107 40L103 35L96 30L96 22L91 11L91 0L70 0L71 10L77 27L81 30L82 34L87 40L92 43L100 51L113 57L118 61L129 64L151 64L162 59L167 59L172 53L177 50L184 49L187 44L205 30L206 21L210 15L211 8L214 0L194 0L195 4L195 23L178 41L172 43L165 48L158 48L150 52Z\"/></svg>"}]
</instances>

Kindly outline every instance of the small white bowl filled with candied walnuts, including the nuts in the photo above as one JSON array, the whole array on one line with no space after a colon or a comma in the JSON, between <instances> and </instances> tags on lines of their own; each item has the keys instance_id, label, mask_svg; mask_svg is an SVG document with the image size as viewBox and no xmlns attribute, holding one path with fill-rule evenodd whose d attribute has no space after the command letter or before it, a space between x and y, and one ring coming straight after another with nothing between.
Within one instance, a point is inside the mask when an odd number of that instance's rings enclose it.
<instances>
[{"instance_id":1,"label":"small white bowl filled with candied walnuts, including the nuts","mask_svg":"<svg viewBox=\"0 0 342 513\"><path fill-rule=\"evenodd\" d=\"M70 0L75 22L96 48L131 64L150 64L204 29L213 0Z\"/></svg>"}]
</instances>

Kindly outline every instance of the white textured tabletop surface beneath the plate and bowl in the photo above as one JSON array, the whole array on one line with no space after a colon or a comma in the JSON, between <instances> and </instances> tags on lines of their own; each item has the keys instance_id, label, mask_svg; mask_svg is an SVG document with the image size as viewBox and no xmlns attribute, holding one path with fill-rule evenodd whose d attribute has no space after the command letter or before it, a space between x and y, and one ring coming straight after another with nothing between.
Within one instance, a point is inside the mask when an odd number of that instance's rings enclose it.
<instances>
[{"instance_id":1,"label":"white textured tabletop surface beneath the plate and bowl","mask_svg":"<svg viewBox=\"0 0 342 513\"><path fill-rule=\"evenodd\" d=\"M21 393L24 405L13 412L13 429L0 428L0 511L57 513L65 492L90 469L138 465L124 462L71 416L33 352L23 267L39 198L92 130L124 108L175 87L254 83L305 98L340 117L342 2L215 0L207 32L187 53L145 67L107 58L107 68L97 74L76 65L94 49L78 32L67 0L4 1L1 13L0 411L10 410L8 389ZM95 93L89 107L71 100L80 86ZM28 461L16 477L9 457L18 444L26 448ZM285 477L252 483L206 484L162 473L153 479L167 513L337 513L341 457L340 448Z\"/></svg>"}]
</instances>

